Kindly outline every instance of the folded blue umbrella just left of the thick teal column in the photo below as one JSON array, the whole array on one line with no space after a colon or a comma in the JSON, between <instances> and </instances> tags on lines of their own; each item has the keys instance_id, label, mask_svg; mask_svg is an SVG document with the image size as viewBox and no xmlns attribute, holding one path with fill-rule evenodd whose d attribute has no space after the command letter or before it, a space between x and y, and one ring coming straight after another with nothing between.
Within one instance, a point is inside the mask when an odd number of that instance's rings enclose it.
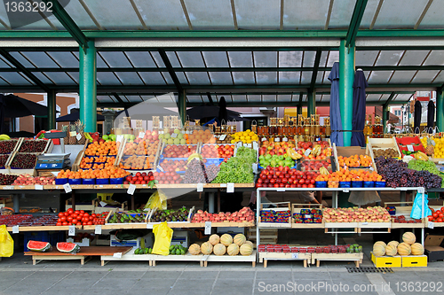
<instances>
[{"instance_id":1,"label":"folded blue umbrella just left of the thick teal column","mask_svg":"<svg viewBox=\"0 0 444 295\"><path fill-rule=\"evenodd\" d=\"M339 107L339 63L334 63L329 74L331 82L330 90L330 128L331 143L337 146L344 146L344 135L342 131L341 109Z\"/></svg>"}]
</instances>

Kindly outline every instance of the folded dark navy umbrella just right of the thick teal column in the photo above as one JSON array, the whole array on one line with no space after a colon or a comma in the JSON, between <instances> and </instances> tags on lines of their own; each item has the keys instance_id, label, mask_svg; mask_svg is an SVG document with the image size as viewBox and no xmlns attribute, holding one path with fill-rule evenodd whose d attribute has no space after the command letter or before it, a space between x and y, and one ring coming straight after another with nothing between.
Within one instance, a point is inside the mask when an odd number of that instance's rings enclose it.
<instances>
[{"instance_id":1,"label":"folded dark navy umbrella just right of the thick teal column","mask_svg":"<svg viewBox=\"0 0 444 295\"><path fill-rule=\"evenodd\" d=\"M364 126L365 126L365 89L369 83L365 79L362 70L356 71L353 82L353 130L352 146L365 146Z\"/></svg>"}]
</instances>

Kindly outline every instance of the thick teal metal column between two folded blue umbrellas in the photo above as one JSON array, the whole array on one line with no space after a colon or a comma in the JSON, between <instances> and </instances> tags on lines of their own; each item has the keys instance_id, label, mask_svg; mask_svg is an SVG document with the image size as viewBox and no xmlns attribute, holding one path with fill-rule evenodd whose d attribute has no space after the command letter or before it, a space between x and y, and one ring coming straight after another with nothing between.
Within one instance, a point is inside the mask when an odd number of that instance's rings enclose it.
<instances>
[{"instance_id":1,"label":"thick teal metal column between two folded blue umbrellas","mask_svg":"<svg viewBox=\"0 0 444 295\"><path fill-rule=\"evenodd\" d=\"M339 47L339 106L344 130L352 130L354 55L354 45L345 47L345 40L341 40ZM350 146L351 143L352 132L344 132L344 146Z\"/></svg>"}]
</instances>

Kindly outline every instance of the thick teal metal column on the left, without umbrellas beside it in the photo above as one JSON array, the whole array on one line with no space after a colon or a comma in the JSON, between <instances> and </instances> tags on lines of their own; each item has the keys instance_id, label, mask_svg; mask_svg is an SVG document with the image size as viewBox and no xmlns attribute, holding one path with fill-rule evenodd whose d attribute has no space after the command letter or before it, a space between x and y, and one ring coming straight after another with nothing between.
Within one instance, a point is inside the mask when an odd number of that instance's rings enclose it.
<instances>
[{"instance_id":1,"label":"thick teal metal column on the left, without umbrellas beside it","mask_svg":"<svg viewBox=\"0 0 444 295\"><path fill-rule=\"evenodd\" d=\"M96 47L94 41L88 42L88 48L79 49L80 54L80 120L86 132L97 131L97 86L96 86Z\"/></svg>"}]
</instances>

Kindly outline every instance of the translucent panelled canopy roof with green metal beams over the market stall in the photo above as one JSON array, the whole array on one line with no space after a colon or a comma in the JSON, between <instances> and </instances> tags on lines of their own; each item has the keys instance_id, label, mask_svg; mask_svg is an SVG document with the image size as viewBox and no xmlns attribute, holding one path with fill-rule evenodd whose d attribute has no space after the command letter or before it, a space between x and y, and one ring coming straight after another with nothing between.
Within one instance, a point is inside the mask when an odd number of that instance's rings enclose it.
<instances>
[{"instance_id":1,"label":"translucent panelled canopy roof with green metal beams over the market stall","mask_svg":"<svg viewBox=\"0 0 444 295\"><path fill-rule=\"evenodd\" d=\"M180 89L188 105L209 94L294 105L308 89L322 105L345 39L368 79L367 102L400 104L442 89L442 12L444 0L71 0L11 29L0 5L0 90L78 91L78 43L94 40L98 105Z\"/></svg>"}]
</instances>

